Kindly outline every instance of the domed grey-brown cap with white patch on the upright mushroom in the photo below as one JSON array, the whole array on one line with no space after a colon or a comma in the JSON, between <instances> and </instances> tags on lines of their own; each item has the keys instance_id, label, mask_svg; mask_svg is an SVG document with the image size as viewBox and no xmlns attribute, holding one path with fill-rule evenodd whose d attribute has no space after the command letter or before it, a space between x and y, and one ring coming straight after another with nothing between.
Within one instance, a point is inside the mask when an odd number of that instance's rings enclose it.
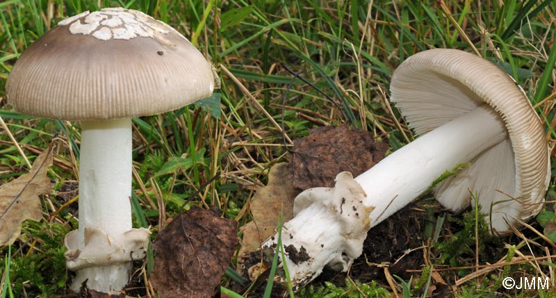
<instances>
[{"instance_id":1,"label":"domed grey-brown cap with white patch on the upright mushroom","mask_svg":"<svg viewBox=\"0 0 556 298\"><path fill-rule=\"evenodd\" d=\"M210 97L211 65L144 13L105 8L65 19L15 63L8 100L26 115L92 120L154 115Z\"/></svg>"}]
</instances>

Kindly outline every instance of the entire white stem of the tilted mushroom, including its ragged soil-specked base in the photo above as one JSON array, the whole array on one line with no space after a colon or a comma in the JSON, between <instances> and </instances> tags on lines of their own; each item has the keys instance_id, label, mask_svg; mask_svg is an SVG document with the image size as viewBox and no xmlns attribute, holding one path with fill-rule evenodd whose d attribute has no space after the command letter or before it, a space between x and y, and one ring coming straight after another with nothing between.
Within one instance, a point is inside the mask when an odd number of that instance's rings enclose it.
<instances>
[{"instance_id":1,"label":"entire white stem of the tilted mushroom, including its ragged soil-specked base","mask_svg":"<svg viewBox=\"0 0 556 298\"><path fill-rule=\"evenodd\" d=\"M295 199L295 217L284 224L281 235L294 288L327 265L347 270L361 255L368 229L425 192L446 170L473 160L506 135L500 117L484 104L398 149L355 179L341 173L335 188L302 192ZM276 243L275 236L262 247Z\"/></svg>"}]
</instances>

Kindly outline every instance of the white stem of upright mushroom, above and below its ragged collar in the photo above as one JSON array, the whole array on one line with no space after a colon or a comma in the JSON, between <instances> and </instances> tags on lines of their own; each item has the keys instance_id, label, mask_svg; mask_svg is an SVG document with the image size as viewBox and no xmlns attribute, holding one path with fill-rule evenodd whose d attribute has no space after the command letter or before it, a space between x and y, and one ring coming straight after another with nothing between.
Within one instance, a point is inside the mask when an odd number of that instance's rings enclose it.
<instances>
[{"instance_id":1,"label":"white stem of upright mushroom, above and below its ragged collar","mask_svg":"<svg viewBox=\"0 0 556 298\"><path fill-rule=\"evenodd\" d=\"M78 246L83 250L86 228L98 227L114 242L131 230L131 118L83 121L81 128ZM131 262L83 268L72 288L79 292L88 280L88 288L114 293L128 283L130 269Z\"/></svg>"}]
</instances>

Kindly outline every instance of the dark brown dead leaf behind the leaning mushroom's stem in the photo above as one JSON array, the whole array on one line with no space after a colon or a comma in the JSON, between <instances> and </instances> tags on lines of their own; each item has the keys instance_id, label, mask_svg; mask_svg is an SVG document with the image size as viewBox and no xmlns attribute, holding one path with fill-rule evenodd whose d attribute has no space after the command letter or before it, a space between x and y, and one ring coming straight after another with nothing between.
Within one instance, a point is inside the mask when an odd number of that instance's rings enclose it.
<instances>
[{"instance_id":1,"label":"dark brown dead leaf behind the leaning mushroom's stem","mask_svg":"<svg viewBox=\"0 0 556 298\"><path fill-rule=\"evenodd\" d=\"M293 141L290 172L293 185L300 190L334 187L340 172L354 177L378 163L389 145L375 142L373 133L349 126L323 126L311 129L309 135Z\"/></svg>"}]
</instances>

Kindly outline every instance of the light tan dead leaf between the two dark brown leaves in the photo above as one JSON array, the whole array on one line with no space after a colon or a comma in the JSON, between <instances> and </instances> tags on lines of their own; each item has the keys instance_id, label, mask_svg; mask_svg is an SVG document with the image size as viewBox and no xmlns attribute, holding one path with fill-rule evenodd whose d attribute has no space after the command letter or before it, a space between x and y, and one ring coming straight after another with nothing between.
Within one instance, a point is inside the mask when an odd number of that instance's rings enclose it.
<instances>
[{"instance_id":1,"label":"light tan dead leaf between the two dark brown leaves","mask_svg":"<svg viewBox=\"0 0 556 298\"><path fill-rule=\"evenodd\" d=\"M253 221L240 228L243 231L243 243L238 255L240 270L243 259L275 234L280 210L284 210L284 222L293 217L293 199L299 191L292 185L288 163L277 163L268 172L266 186L256 190L250 206Z\"/></svg>"}]
</instances>

